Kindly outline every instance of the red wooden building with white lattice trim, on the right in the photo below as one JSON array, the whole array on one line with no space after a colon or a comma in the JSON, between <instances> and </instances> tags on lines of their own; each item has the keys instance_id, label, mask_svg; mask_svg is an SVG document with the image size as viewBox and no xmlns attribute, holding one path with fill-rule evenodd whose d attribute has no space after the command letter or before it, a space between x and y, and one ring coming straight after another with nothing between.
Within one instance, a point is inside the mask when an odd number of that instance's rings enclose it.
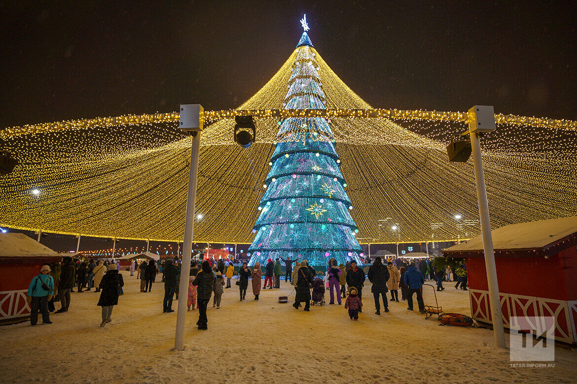
<instances>
[{"instance_id":1,"label":"red wooden building with white lattice trim, on the right","mask_svg":"<svg viewBox=\"0 0 577 384\"><path fill-rule=\"evenodd\" d=\"M577 344L577 216L511 224L492 235L504 326L517 326L510 317L550 316L555 339ZM490 324L482 237L443 255L467 259L471 314ZM537 332L546 330L544 324L533 325Z\"/></svg>"}]
</instances>

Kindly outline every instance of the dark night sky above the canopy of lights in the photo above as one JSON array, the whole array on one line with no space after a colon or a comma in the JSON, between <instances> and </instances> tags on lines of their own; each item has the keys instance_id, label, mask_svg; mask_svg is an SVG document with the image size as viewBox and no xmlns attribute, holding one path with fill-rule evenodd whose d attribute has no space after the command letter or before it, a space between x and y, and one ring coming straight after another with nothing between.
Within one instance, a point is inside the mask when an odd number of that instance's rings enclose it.
<instances>
[{"instance_id":1,"label":"dark night sky above the canopy of lights","mask_svg":"<svg viewBox=\"0 0 577 384\"><path fill-rule=\"evenodd\" d=\"M3 1L0 127L237 107L294 50L303 13L373 107L577 120L576 3L519 3Z\"/></svg>"}]
</instances>

